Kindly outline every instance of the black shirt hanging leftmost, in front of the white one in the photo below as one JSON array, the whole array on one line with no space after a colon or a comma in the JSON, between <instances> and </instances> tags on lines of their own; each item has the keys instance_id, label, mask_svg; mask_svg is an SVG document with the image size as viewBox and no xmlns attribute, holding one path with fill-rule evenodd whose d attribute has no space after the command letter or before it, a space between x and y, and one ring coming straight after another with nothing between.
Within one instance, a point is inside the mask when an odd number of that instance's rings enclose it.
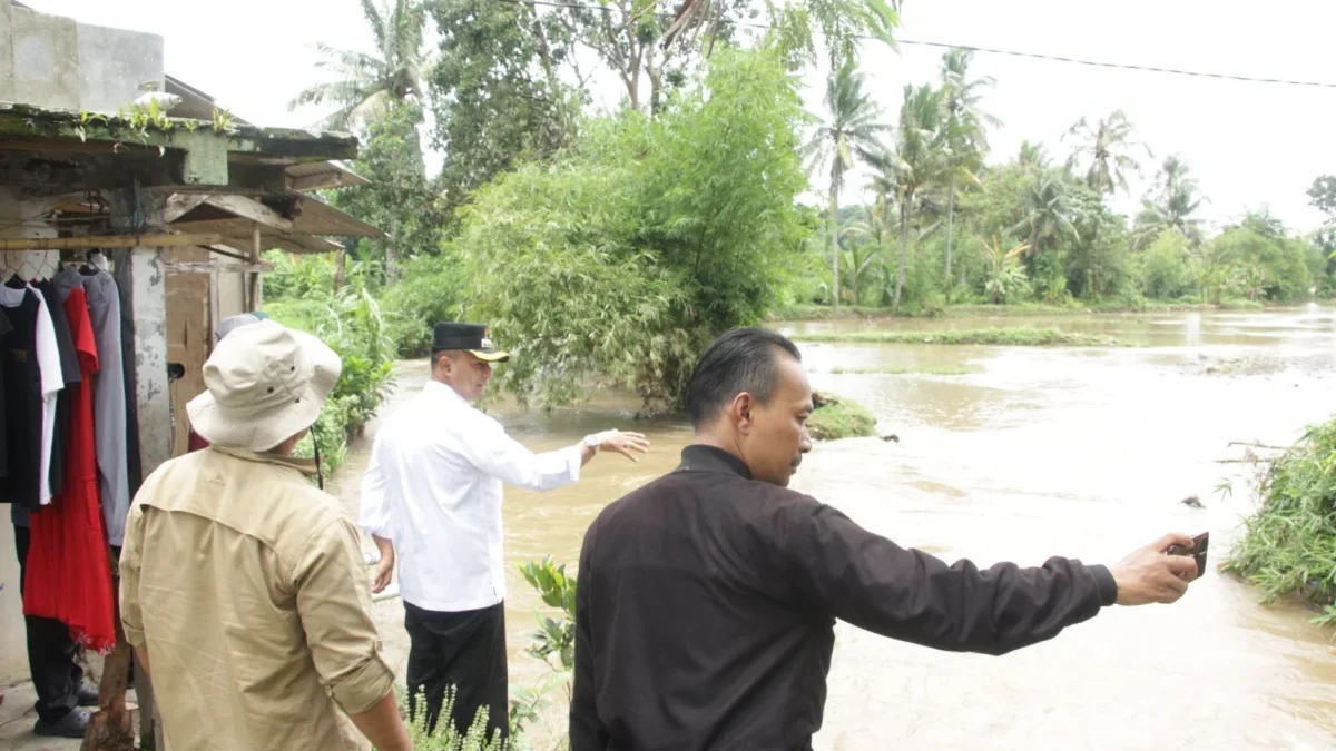
<instances>
[{"instance_id":1,"label":"black shirt hanging leftmost, in front of the white one","mask_svg":"<svg viewBox=\"0 0 1336 751\"><path fill-rule=\"evenodd\" d=\"M5 307L13 327L0 347L0 380L4 381L4 432L8 477L0 482L0 502L27 509L41 508L41 369L37 366L37 293L27 290L23 302Z\"/></svg>"}]
</instances>

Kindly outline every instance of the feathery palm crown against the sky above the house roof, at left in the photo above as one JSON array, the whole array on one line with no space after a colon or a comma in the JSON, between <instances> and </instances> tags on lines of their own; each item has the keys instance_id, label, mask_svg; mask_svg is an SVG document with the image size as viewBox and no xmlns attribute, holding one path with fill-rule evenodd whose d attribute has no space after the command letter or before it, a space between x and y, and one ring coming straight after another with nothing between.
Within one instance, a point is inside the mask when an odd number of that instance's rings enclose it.
<instances>
[{"instance_id":1,"label":"feathery palm crown against the sky above the house roof, at left","mask_svg":"<svg viewBox=\"0 0 1336 751\"><path fill-rule=\"evenodd\" d=\"M420 0L393 3L393 8L382 8L374 0L362 0L362 13L375 39L375 55L318 45L325 60L317 67L334 69L337 78L298 94L287 104L289 111L335 104L338 110L317 127L346 131L365 124L390 102L422 95L422 75L428 67L422 53L424 7Z\"/></svg>"}]
</instances>

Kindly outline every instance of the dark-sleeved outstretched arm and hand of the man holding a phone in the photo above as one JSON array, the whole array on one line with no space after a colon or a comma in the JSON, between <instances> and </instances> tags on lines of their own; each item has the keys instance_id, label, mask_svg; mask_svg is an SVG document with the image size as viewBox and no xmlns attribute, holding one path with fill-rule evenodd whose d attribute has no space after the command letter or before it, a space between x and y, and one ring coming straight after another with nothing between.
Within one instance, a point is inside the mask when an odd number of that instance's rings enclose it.
<instances>
[{"instance_id":1,"label":"dark-sleeved outstretched arm and hand of the man holding a phone","mask_svg":"<svg viewBox=\"0 0 1336 751\"><path fill-rule=\"evenodd\" d=\"M1170 543L1190 547L1190 537L1177 535L1134 552L1114 571L1063 557L1033 568L979 569L900 548L822 504L795 505L787 521L790 580L799 599L860 628L937 649L1002 655L1051 639L1105 605L1172 603L1196 573L1190 557L1164 555Z\"/></svg>"}]
</instances>

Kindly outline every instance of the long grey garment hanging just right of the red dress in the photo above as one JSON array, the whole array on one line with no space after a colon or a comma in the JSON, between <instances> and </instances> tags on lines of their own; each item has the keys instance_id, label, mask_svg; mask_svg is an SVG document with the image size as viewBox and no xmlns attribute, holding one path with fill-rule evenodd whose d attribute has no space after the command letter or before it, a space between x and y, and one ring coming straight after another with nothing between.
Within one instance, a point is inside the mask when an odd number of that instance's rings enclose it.
<instances>
[{"instance_id":1,"label":"long grey garment hanging just right of the red dress","mask_svg":"<svg viewBox=\"0 0 1336 751\"><path fill-rule=\"evenodd\" d=\"M95 255L95 259L100 254ZM92 413L98 442L98 490L107 543L120 547L130 514L130 470L126 442L126 370L122 349L120 290L104 270L86 266L56 274L56 289L81 287L88 295L88 318L98 346L98 373L92 377Z\"/></svg>"}]
</instances>

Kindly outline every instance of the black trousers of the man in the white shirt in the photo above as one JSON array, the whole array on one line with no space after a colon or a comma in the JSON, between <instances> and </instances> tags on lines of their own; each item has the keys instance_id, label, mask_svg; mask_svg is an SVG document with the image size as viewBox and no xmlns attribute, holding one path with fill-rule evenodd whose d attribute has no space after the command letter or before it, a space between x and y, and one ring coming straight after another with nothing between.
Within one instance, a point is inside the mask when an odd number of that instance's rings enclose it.
<instances>
[{"instance_id":1,"label":"black trousers of the man in the white shirt","mask_svg":"<svg viewBox=\"0 0 1336 751\"><path fill-rule=\"evenodd\" d=\"M409 718L417 718L417 696L426 696L426 724L434 730L446 686L454 687L450 719L462 735L480 708L488 715L488 735L510 735L506 680L505 603L478 611L442 613L403 603L409 632Z\"/></svg>"}]
</instances>

